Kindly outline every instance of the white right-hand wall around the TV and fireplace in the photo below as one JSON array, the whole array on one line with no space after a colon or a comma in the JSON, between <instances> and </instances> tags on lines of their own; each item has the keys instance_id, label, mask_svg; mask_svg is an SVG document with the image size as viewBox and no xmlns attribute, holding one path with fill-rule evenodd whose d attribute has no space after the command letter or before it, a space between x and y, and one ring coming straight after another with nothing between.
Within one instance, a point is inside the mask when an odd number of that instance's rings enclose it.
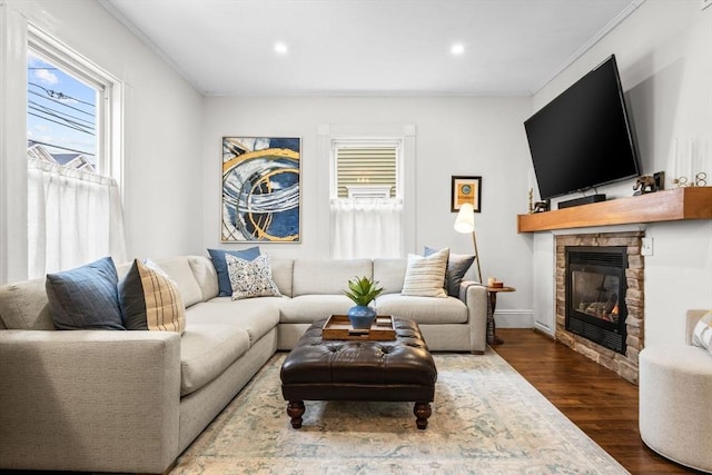
<instances>
[{"instance_id":1,"label":"white right-hand wall around the TV and fireplace","mask_svg":"<svg viewBox=\"0 0 712 475\"><path fill-rule=\"evenodd\" d=\"M664 170L672 187L675 171L686 168L680 159L675 165L675 139L694 139L695 170L712 177L712 9L701 11L698 0L647 0L537 92L535 109L611 53L635 122L643 172ZM603 191L632 195L630 182ZM712 307L712 222L652 224L646 236L654 239L654 255L645 257L645 345L684 342L685 310ZM551 279L537 269L533 279Z\"/></svg>"}]
</instances>

